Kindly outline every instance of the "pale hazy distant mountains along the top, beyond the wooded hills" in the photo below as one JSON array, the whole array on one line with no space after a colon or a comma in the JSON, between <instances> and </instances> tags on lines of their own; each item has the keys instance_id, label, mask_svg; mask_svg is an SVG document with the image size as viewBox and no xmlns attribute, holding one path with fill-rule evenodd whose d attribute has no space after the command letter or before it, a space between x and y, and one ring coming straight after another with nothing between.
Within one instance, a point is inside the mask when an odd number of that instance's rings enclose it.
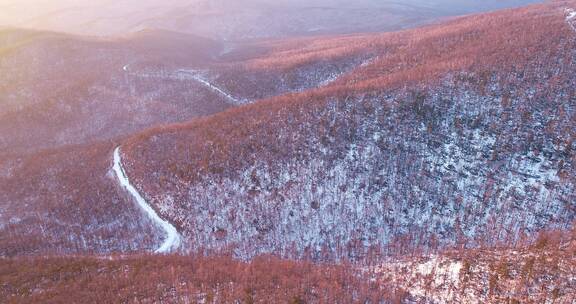
<instances>
[{"instance_id":1,"label":"pale hazy distant mountains along the top, beyond the wooded hills","mask_svg":"<svg viewBox=\"0 0 576 304\"><path fill-rule=\"evenodd\" d=\"M0 25L91 35L159 28L220 38L392 30L535 0L0 0Z\"/></svg>"}]
</instances>

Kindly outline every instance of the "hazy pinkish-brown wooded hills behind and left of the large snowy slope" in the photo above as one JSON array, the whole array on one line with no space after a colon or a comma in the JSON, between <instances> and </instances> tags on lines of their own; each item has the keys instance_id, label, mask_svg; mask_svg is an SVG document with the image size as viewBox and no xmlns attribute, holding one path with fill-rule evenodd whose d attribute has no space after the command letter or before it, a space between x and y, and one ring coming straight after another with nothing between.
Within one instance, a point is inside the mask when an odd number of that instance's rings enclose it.
<instances>
[{"instance_id":1,"label":"hazy pinkish-brown wooded hills behind and left of the large snowy slope","mask_svg":"<svg viewBox=\"0 0 576 304\"><path fill-rule=\"evenodd\" d=\"M153 126L313 87L365 56L250 68L301 46L223 45L166 31L114 39L2 31L0 256L156 247L163 231L118 187L113 149ZM266 86L250 89L263 77Z\"/></svg>"}]
</instances>

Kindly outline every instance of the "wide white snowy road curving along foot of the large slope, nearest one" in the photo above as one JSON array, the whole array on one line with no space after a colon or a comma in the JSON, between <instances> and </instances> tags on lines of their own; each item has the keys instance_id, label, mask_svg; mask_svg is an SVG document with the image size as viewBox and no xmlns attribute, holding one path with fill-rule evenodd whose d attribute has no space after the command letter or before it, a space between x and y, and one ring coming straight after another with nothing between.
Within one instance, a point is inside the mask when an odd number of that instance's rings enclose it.
<instances>
[{"instance_id":1,"label":"wide white snowy road curving along foot of the large slope, nearest one","mask_svg":"<svg viewBox=\"0 0 576 304\"><path fill-rule=\"evenodd\" d=\"M160 226L166 232L166 239L162 243L162 245L156 249L155 253L166 254L170 253L178 246L180 246L180 234L174 225L170 224L168 221L163 220L158 213L144 200L144 198L138 193L138 190L130 183L128 176L126 175L126 171L122 166L122 159L120 157L120 147L114 150L114 172L120 181L120 185L126 189L130 195L136 200L138 206L146 212L146 215L155 222L158 226Z\"/></svg>"}]
</instances>

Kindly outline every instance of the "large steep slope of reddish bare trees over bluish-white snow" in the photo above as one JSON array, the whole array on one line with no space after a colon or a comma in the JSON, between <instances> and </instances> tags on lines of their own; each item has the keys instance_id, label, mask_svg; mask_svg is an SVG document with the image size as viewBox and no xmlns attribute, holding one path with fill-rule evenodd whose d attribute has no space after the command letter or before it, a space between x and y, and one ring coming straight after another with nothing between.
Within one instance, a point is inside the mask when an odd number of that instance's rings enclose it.
<instances>
[{"instance_id":1,"label":"large steep slope of reddish bare trees over bluish-white snow","mask_svg":"<svg viewBox=\"0 0 576 304\"><path fill-rule=\"evenodd\" d=\"M567 228L567 5L358 37L380 52L367 66L146 132L124 145L125 168L190 251L362 259L371 247L493 246Z\"/></svg>"}]
</instances>

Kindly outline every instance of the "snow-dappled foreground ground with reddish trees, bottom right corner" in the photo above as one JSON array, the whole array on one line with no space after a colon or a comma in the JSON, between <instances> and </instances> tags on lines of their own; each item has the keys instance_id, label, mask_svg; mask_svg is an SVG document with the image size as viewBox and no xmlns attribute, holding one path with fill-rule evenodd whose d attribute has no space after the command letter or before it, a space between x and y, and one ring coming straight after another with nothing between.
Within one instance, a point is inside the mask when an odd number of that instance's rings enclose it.
<instances>
[{"instance_id":1,"label":"snow-dappled foreground ground with reddish trees, bottom right corner","mask_svg":"<svg viewBox=\"0 0 576 304\"><path fill-rule=\"evenodd\" d=\"M576 266L570 250L455 251L394 258L365 270L405 290L406 303L568 304L574 303Z\"/></svg>"}]
</instances>

